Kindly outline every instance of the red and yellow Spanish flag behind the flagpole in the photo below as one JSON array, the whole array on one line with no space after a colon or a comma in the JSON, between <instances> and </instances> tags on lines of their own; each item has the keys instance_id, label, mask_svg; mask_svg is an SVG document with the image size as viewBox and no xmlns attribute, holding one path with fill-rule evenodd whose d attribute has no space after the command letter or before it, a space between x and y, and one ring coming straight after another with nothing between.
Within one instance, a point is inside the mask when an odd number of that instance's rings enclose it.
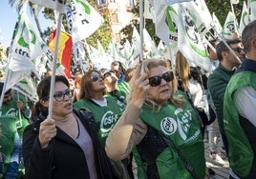
<instances>
[{"instance_id":1,"label":"red and yellow Spanish flag behind the flagpole","mask_svg":"<svg viewBox=\"0 0 256 179\"><path fill-rule=\"evenodd\" d=\"M49 48L54 51L56 30L48 41ZM71 52L72 52L72 37L65 31L60 31L59 46L57 52L57 60L65 68L66 77L71 79Z\"/></svg>"}]
</instances>

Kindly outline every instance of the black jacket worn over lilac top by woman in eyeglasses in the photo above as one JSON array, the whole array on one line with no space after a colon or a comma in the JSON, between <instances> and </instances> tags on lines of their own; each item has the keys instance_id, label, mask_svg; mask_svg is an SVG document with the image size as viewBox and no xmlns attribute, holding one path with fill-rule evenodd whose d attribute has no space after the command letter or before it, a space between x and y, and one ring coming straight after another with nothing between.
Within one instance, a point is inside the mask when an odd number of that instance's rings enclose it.
<instances>
[{"instance_id":1,"label":"black jacket worn over lilac top by woman in eyeglasses","mask_svg":"<svg viewBox=\"0 0 256 179\"><path fill-rule=\"evenodd\" d=\"M95 149L97 178L112 176L109 159L96 133L96 123L91 112L74 110L83 126L89 132ZM23 135L22 154L26 179L86 179L90 178L83 150L63 130L57 134L46 149L41 149L38 140L40 123L46 117L29 125Z\"/></svg>"}]
</instances>

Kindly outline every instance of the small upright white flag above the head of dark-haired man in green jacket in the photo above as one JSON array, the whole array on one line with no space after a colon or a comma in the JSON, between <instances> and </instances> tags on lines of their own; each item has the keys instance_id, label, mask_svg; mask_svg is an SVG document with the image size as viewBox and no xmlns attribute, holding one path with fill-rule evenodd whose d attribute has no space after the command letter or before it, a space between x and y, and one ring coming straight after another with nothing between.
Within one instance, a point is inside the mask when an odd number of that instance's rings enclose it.
<instances>
[{"instance_id":1,"label":"small upright white flag above the head of dark-haired man in green jacket","mask_svg":"<svg viewBox=\"0 0 256 179\"><path fill-rule=\"evenodd\" d=\"M235 22L237 22L235 18L236 17L234 16L233 12L229 11L224 21L224 30L223 30L223 36L226 39L233 38L233 33L235 32Z\"/></svg>"}]
</instances>

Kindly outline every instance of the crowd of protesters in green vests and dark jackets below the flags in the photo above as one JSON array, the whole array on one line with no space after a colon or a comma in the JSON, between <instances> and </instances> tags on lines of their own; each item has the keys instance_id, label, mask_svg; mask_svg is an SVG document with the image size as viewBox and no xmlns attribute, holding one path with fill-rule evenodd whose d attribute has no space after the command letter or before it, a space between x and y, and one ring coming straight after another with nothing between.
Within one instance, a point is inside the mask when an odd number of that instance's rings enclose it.
<instances>
[{"instance_id":1,"label":"crowd of protesters in green vests and dark jackets below the flags","mask_svg":"<svg viewBox=\"0 0 256 179\"><path fill-rule=\"evenodd\" d=\"M131 69L76 68L74 82L55 75L51 112L51 71L32 106L6 89L0 178L209 178L205 133L210 159L227 159L230 178L256 178L256 21L207 52L210 71L178 51Z\"/></svg>"}]
</instances>

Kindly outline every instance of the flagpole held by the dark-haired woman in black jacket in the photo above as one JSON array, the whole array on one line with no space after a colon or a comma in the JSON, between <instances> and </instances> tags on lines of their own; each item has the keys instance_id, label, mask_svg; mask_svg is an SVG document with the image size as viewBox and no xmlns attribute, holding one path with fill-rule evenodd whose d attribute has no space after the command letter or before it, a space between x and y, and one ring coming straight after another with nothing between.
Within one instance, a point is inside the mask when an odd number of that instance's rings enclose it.
<instances>
[{"instance_id":1,"label":"flagpole held by the dark-haired woman in black jacket","mask_svg":"<svg viewBox=\"0 0 256 179\"><path fill-rule=\"evenodd\" d=\"M58 53L58 46L59 46L59 36L61 30L61 22L63 18L63 13L58 12L58 20L57 20L57 29L56 29L56 40L55 40L55 47L54 47L54 57L53 57L53 74L51 78L51 89L50 89L50 98L49 98L49 109L48 109L48 116L52 118L53 116L53 91L55 86L55 71L56 71L56 60L57 60L57 53Z\"/></svg>"}]
</instances>

